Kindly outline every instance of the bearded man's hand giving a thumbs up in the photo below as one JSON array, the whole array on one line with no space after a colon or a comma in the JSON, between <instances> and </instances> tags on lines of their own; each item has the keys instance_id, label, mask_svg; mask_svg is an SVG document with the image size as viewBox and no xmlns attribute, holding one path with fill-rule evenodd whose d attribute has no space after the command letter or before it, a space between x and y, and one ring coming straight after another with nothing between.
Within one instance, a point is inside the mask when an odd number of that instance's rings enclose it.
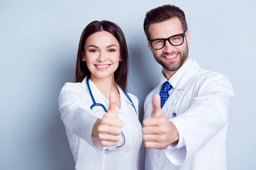
<instances>
[{"instance_id":1,"label":"bearded man's hand giving a thumbs up","mask_svg":"<svg viewBox=\"0 0 256 170\"><path fill-rule=\"evenodd\" d=\"M143 141L146 148L165 149L179 139L177 128L170 122L160 107L160 95L152 99L152 117L143 120Z\"/></svg>"}]
</instances>

